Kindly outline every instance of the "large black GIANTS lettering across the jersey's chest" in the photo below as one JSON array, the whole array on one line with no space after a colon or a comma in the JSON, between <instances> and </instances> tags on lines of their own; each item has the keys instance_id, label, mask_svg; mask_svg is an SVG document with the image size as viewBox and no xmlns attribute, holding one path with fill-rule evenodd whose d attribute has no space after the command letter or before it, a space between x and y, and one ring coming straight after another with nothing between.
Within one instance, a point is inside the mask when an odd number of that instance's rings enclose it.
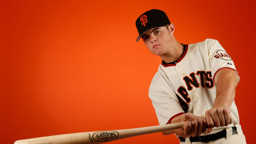
<instances>
[{"instance_id":1,"label":"large black GIANTS lettering across the jersey's chest","mask_svg":"<svg viewBox=\"0 0 256 144\"><path fill-rule=\"evenodd\" d=\"M211 76L211 71L196 71L196 75L200 77L200 84L202 87L205 87L206 85L208 89L212 89L214 84ZM193 87L198 88L200 86L198 80L195 77L195 73L191 73L189 74L189 76L183 77L183 80L185 81L187 85L187 90L189 91L193 90ZM177 91L186 100L187 103L190 103L191 99L187 90L184 86L180 86Z\"/></svg>"}]
</instances>

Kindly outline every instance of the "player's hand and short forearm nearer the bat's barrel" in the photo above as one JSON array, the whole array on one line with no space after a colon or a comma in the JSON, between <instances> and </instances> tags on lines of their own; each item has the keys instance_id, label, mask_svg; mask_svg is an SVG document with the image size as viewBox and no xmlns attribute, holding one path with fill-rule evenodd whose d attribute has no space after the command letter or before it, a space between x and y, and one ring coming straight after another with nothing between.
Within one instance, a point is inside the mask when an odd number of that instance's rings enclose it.
<instances>
[{"instance_id":1,"label":"player's hand and short forearm nearer the bat's barrel","mask_svg":"<svg viewBox=\"0 0 256 144\"><path fill-rule=\"evenodd\" d=\"M183 137L195 137L206 131L207 123L205 117L195 116L193 113L184 113L174 117L170 123L186 122L182 129L175 129L174 132Z\"/></svg>"}]
</instances>

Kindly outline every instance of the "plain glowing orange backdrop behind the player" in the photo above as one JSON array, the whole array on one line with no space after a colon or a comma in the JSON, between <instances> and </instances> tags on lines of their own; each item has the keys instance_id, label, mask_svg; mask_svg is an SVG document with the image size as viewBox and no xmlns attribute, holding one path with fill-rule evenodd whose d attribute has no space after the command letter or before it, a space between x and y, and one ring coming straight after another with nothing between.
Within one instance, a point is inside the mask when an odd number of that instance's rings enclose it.
<instances>
[{"instance_id":1,"label":"plain glowing orange backdrop behind the player","mask_svg":"<svg viewBox=\"0 0 256 144\"><path fill-rule=\"evenodd\" d=\"M161 9L180 43L218 39L241 76L236 104L255 134L255 2L0 1L0 139L158 125L148 87L161 59L136 42L135 20ZM178 143L161 133L111 143Z\"/></svg>"}]
</instances>

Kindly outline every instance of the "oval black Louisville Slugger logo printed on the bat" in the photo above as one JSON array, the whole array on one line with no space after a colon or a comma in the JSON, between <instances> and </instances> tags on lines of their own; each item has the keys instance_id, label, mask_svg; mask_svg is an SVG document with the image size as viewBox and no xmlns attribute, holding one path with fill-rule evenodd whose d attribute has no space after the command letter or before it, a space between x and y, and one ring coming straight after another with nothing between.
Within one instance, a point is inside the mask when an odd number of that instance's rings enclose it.
<instances>
[{"instance_id":1,"label":"oval black Louisville Slugger logo printed on the bat","mask_svg":"<svg viewBox=\"0 0 256 144\"><path fill-rule=\"evenodd\" d=\"M118 137L118 132L113 130L98 131L93 134L93 139L97 142L108 142Z\"/></svg>"}]
</instances>

